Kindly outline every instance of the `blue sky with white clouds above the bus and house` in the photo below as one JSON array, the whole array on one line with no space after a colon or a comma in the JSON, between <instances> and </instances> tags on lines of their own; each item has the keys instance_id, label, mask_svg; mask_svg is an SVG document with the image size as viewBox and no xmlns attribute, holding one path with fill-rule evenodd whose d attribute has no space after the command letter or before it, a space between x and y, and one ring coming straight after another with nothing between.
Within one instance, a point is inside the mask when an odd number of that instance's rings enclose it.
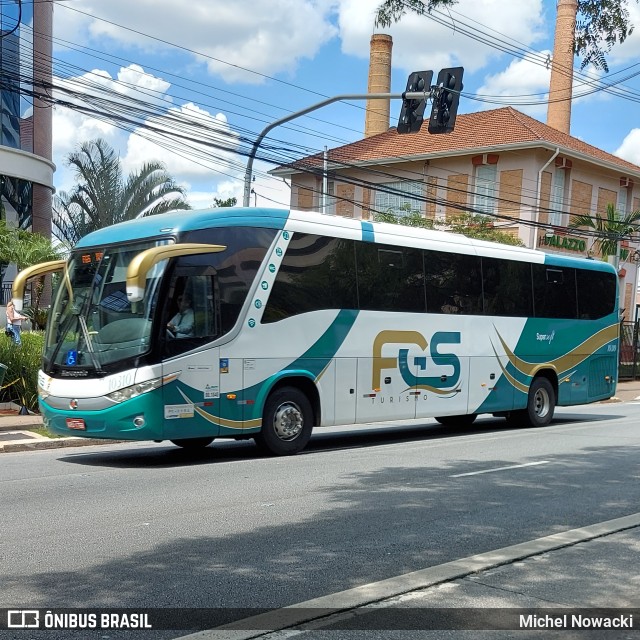
<instances>
[{"instance_id":1,"label":"blue sky with white clouds above the bus and house","mask_svg":"<svg viewBox=\"0 0 640 640\"><path fill-rule=\"evenodd\" d=\"M379 2L56 2L54 84L77 92L57 97L86 106L89 94L96 109L55 107L56 189L73 187L68 154L101 137L125 173L163 162L194 208L214 198L241 204L246 152L266 126L328 97L366 93L375 32L393 37L392 93L404 91L412 71L432 69L436 77L462 66L459 113L511 105L546 120L544 61L553 49L556 0L459 0L433 18L407 14L375 29ZM640 5L630 0L628 8L638 28L608 54L609 73L580 71L575 61L574 95L586 95L573 101L571 134L640 165ZM619 83L617 95L592 91L594 81ZM364 106L340 102L273 129L254 165L251 204L287 207L287 184L267 171L362 138ZM400 107L392 101L392 126Z\"/></svg>"}]
</instances>

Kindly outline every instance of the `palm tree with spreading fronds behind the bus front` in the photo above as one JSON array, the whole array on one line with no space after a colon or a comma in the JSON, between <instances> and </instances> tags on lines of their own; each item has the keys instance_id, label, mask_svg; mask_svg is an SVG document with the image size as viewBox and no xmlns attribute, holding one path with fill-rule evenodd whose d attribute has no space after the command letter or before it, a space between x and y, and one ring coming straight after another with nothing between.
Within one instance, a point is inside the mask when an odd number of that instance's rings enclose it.
<instances>
[{"instance_id":1,"label":"palm tree with spreading fronds behind the bus front","mask_svg":"<svg viewBox=\"0 0 640 640\"><path fill-rule=\"evenodd\" d=\"M98 138L69 154L77 185L53 203L52 233L67 247L91 231L141 215L190 209L185 191L161 162L150 161L125 179L120 158Z\"/></svg>"}]
</instances>

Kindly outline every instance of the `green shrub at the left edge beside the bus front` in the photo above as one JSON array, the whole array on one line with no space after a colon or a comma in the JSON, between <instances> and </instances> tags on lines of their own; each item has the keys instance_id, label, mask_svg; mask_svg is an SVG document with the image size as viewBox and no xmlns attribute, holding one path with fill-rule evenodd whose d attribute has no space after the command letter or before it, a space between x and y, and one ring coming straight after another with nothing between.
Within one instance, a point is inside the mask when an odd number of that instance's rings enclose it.
<instances>
[{"instance_id":1,"label":"green shrub at the left edge beside the bus front","mask_svg":"<svg viewBox=\"0 0 640 640\"><path fill-rule=\"evenodd\" d=\"M0 402L15 402L38 411L38 369L42 362L44 333L23 331L22 346L0 335L0 362L7 367L0 388Z\"/></svg>"}]
</instances>

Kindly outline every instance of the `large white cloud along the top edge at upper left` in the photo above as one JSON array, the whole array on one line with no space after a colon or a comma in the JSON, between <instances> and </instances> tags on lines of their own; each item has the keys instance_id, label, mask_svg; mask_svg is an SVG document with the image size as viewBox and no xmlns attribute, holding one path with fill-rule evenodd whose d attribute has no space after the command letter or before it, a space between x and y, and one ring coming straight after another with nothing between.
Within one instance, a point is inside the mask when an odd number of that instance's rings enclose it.
<instances>
[{"instance_id":1,"label":"large white cloud along the top edge at upper left","mask_svg":"<svg viewBox=\"0 0 640 640\"><path fill-rule=\"evenodd\" d=\"M172 43L209 56L197 58L227 82L260 83L263 77L259 74L293 73L302 58L313 58L336 35L328 19L330 7L326 0L252 0L250 6L228 0L188 4L173 0L110 0L99 4L78 0L71 8L56 7L60 14L56 26L68 15L78 21L73 8L80 8L101 18L88 24L88 33L94 39L106 37L146 51L175 52L175 47L168 44ZM80 21L80 25L80 33L87 33L87 23Z\"/></svg>"}]
</instances>

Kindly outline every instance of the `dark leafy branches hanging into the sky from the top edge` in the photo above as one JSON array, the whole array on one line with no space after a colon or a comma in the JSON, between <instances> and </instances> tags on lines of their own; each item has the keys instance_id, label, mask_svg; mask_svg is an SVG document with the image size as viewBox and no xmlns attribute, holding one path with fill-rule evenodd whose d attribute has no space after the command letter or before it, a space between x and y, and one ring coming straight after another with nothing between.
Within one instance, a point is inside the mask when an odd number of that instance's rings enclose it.
<instances>
[{"instance_id":1,"label":"dark leafy branches hanging into the sky from the top edge","mask_svg":"<svg viewBox=\"0 0 640 640\"><path fill-rule=\"evenodd\" d=\"M425 15L434 9L450 7L457 1L384 0L376 10L375 22L377 26L388 27L398 22L407 11ZM628 0L578 0L573 50L582 58L582 69L592 64L597 69L609 71L605 54L633 32L628 4Z\"/></svg>"}]
</instances>

